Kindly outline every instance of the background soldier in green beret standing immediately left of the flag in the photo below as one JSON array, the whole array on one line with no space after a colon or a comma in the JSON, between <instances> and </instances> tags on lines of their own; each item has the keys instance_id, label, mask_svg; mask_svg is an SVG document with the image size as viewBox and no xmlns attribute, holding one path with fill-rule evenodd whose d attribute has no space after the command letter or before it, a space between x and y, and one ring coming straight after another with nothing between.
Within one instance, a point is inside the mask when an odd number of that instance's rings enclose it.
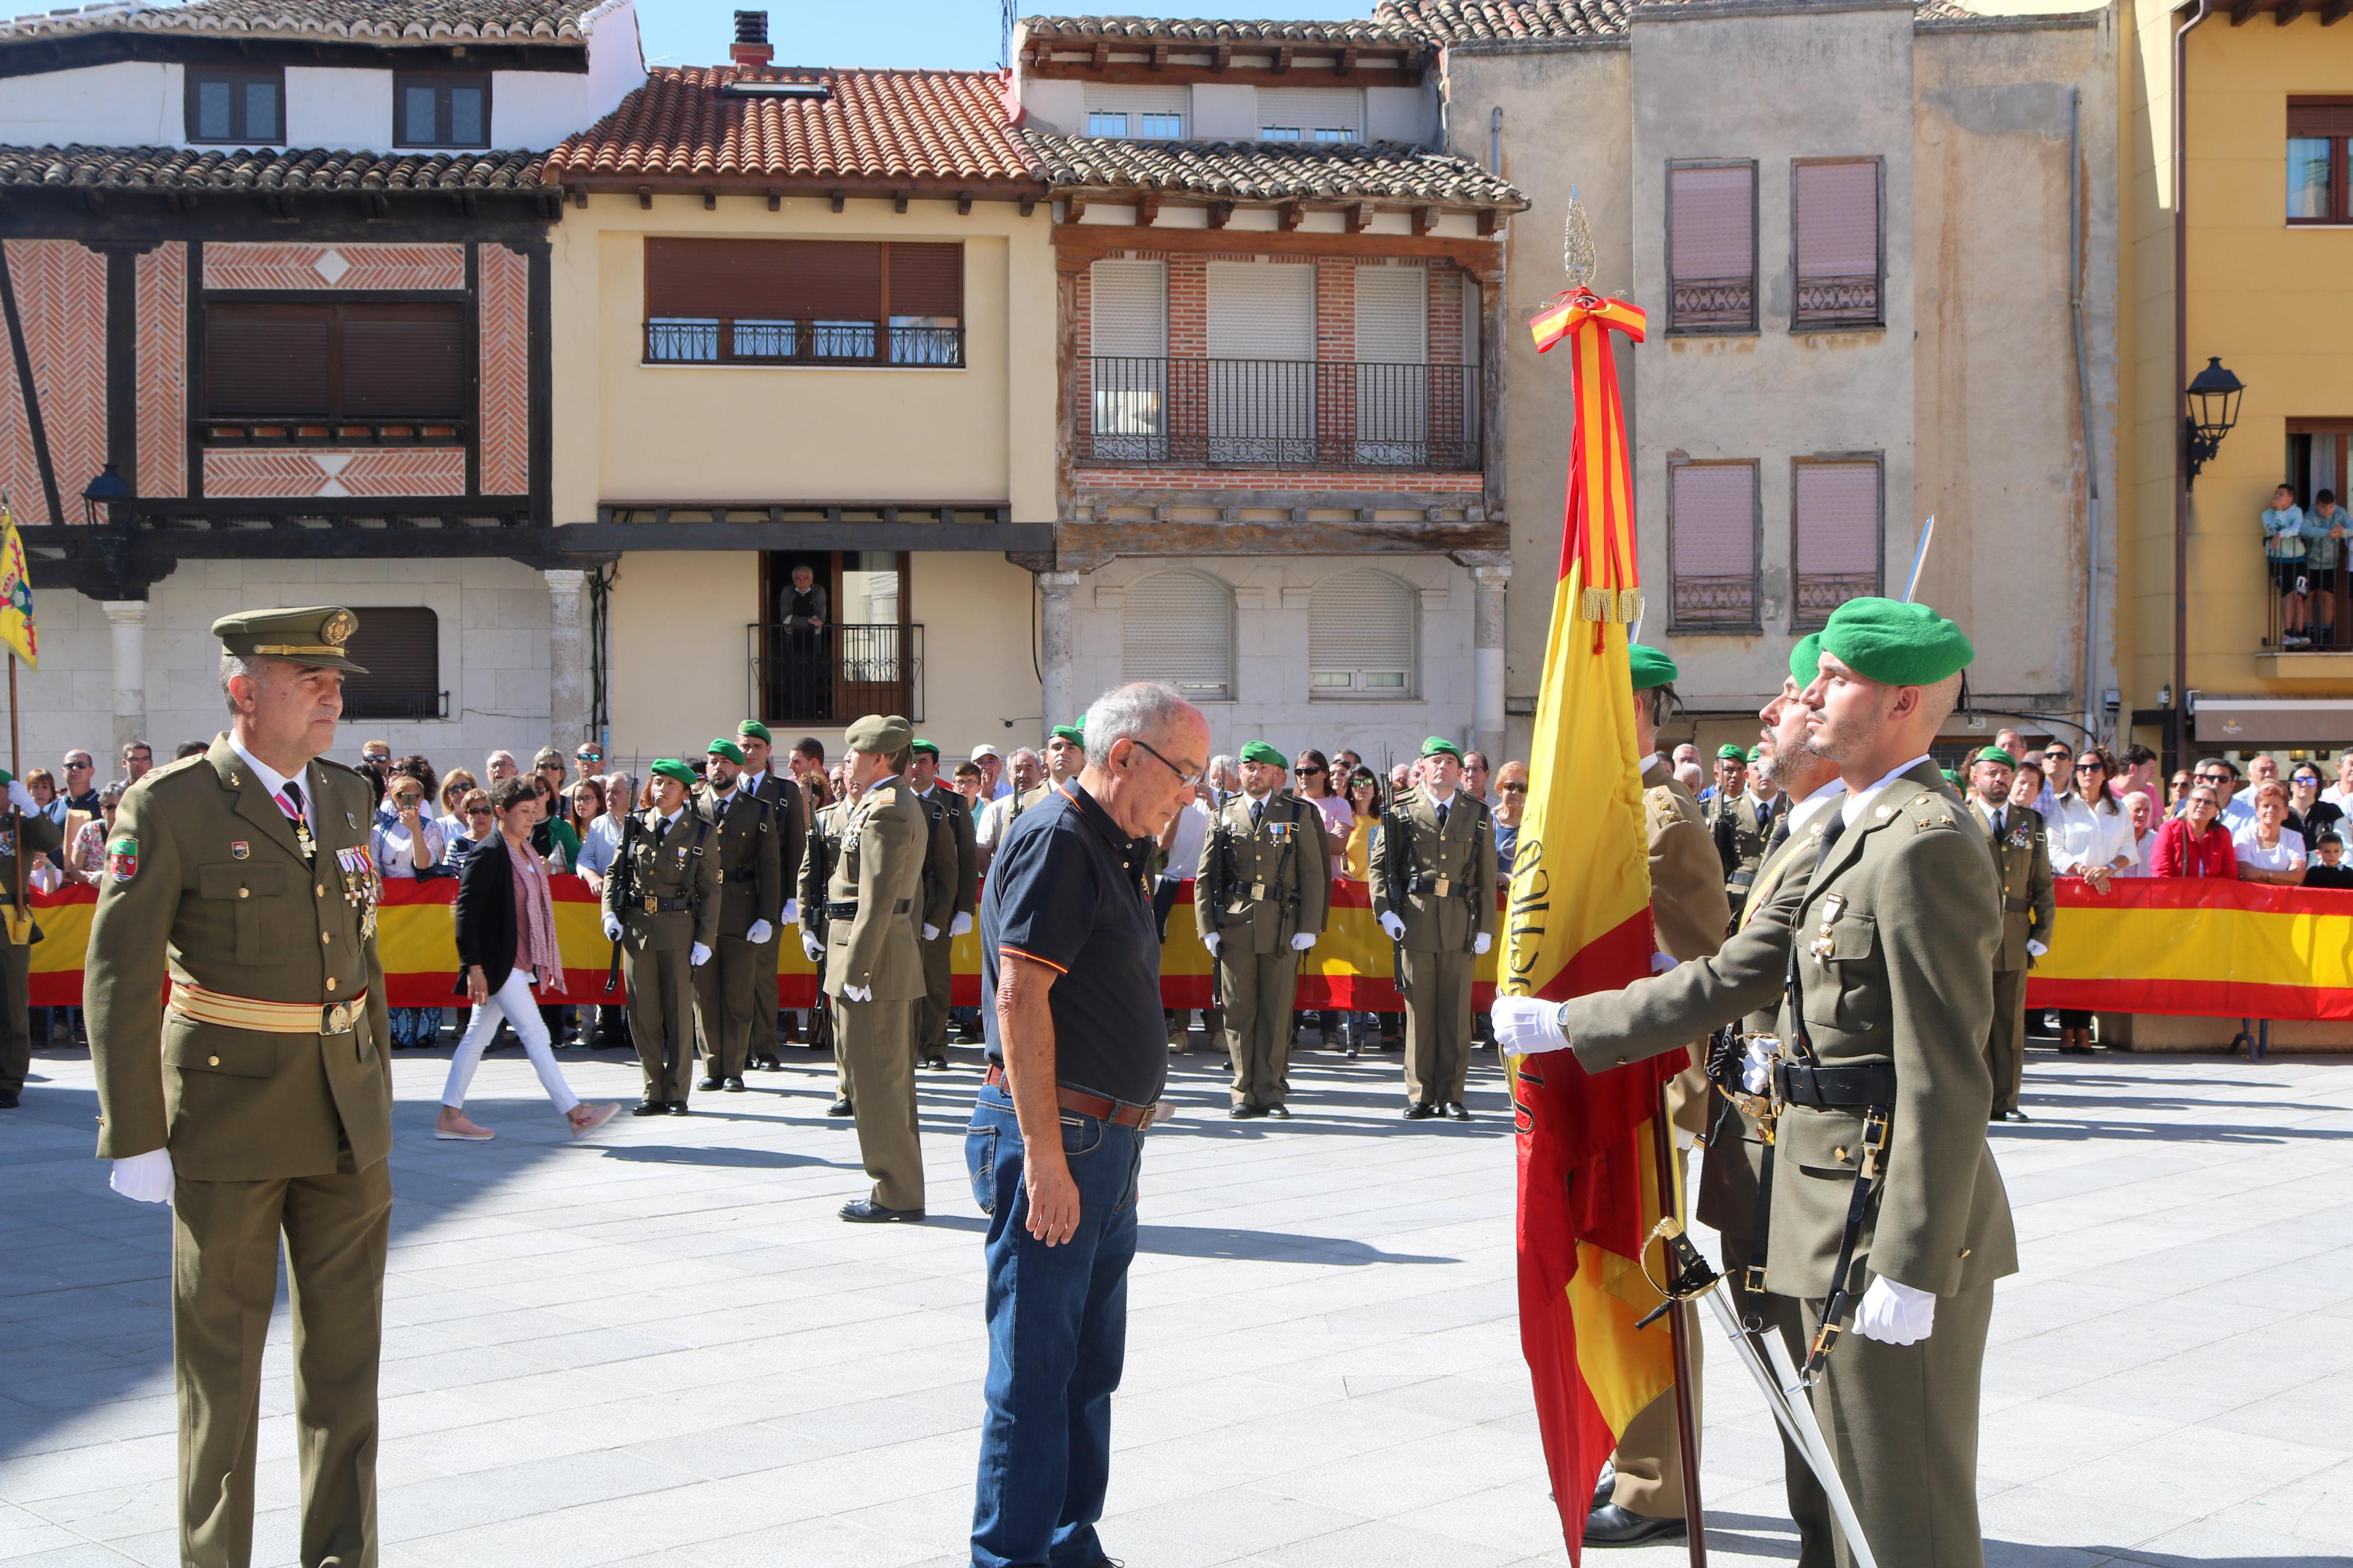
<instances>
[{"instance_id":1,"label":"background soldier in green beret standing immediately left of the flag","mask_svg":"<svg viewBox=\"0 0 2353 1568\"><path fill-rule=\"evenodd\" d=\"M1381 813L1372 912L1398 945L1405 997L1405 1119L1468 1121L1471 971L1494 945L1494 820L1461 788L1461 748L1421 743L1421 788Z\"/></svg>"}]
</instances>

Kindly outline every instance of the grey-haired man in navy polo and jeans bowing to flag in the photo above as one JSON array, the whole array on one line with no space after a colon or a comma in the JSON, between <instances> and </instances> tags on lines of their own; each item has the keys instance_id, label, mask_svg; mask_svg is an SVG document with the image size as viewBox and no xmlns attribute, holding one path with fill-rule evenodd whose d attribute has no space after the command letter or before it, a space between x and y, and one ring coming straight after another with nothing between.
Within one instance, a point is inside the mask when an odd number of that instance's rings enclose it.
<instances>
[{"instance_id":1,"label":"grey-haired man in navy polo and jeans bowing to flag","mask_svg":"<svg viewBox=\"0 0 2353 1568\"><path fill-rule=\"evenodd\" d=\"M974 1568L1106 1563L1141 1138L1167 1079L1151 860L1209 722L1139 682L1087 710L1085 771L1007 830L981 898L988 1081L965 1164L988 1213Z\"/></svg>"}]
</instances>

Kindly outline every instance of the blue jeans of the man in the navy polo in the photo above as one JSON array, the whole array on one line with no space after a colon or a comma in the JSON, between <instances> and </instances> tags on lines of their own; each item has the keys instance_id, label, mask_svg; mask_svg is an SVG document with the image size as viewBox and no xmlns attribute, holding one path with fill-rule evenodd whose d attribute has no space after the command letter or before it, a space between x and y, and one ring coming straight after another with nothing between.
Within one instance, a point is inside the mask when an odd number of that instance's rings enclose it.
<instances>
[{"instance_id":1,"label":"blue jeans of the man in the navy polo","mask_svg":"<svg viewBox=\"0 0 2353 1568\"><path fill-rule=\"evenodd\" d=\"M974 1568L1094 1568L1111 1483L1111 1389L1127 1359L1127 1265L1136 1255L1144 1133L1061 1112L1078 1232L1028 1234L1021 1124L981 1088L965 1133L972 1197L988 1215L988 1420L972 1500Z\"/></svg>"}]
</instances>

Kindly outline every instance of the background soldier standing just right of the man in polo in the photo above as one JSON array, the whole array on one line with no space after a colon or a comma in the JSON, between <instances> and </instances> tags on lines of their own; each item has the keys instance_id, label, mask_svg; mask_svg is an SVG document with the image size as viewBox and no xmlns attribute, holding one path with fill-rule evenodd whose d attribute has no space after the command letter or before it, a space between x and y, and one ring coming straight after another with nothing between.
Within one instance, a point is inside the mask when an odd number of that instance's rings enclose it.
<instances>
[{"instance_id":1,"label":"background soldier standing just right of the man in polo","mask_svg":"<svg viewBox=\"0 0 2353 1568\"><path fill-rule=\"evenodd\" d=\"M1325 818L1282 788L1282 752L1242 748L1242 792L1200 842L1193 926L1217 964L1233 1058L1228 1117L1289 1117L1292 999L1299 954L1322 936L1332 905Z\"/></svg>"}]
</instances>

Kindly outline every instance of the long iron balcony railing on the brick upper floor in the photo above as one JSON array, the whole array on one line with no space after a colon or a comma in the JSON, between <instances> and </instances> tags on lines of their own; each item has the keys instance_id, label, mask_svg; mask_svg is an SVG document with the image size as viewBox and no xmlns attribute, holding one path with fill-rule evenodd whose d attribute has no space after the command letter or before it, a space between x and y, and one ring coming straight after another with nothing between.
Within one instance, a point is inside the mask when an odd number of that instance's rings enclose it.
<instances>
[{"instance_id":1,"label":"long iron balcony railing on the brick upper floor","mask_svg":"<svg viewBox=\"0 0 2353 1568\"><path fill-rule=\"evenodd\" d=\"M1482 465L1478 364L1089 355L1071 407L1094 468Z\"/></svg>"}]
</instances>

